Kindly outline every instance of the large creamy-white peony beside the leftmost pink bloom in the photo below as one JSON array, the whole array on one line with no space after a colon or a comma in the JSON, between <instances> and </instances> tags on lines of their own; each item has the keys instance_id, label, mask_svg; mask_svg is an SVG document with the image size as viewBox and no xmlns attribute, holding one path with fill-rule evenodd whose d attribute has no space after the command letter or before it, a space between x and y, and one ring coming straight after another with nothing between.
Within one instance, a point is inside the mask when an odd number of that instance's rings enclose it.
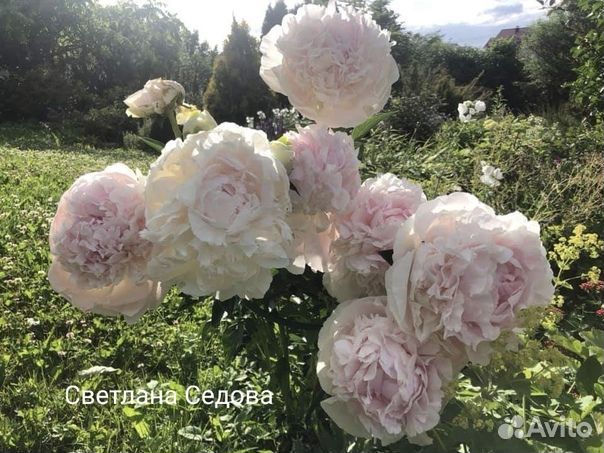
<instances>
[{"instance_id":1,"label":"large creamy-white peony beside the leftmost pink bloom","mask_svg":"<svg viewBox=\"0 0 604 453\"><path fill-rule=\"evenodd\" d=\"M263 132L223 123L168 142L147 183L149 272L194 296L263 297L289 265L288 192Z\"/></svg>"}]
</instances>

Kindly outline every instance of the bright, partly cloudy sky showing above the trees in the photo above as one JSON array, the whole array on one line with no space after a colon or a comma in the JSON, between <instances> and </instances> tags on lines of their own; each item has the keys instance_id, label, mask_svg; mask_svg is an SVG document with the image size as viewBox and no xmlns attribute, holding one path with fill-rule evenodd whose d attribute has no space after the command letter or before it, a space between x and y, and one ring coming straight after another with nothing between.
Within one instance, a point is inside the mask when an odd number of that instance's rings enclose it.
<instances>
[{"instance_id":1,"label":"bright, partly cloudy sky showing above the trees","mask_svg":"<svg viewBox=\"0 0 604 453\"><path fill-rule=\"evenodd\" d=\"M119 0L101 0L103 4ZM269 0L163 0L167 9L202 40L221 47L233 15L260 34ZM274 1L274 0L273 0ZM300 0L286 0L292 7ZM405 27L422 33L440 31L459 44L482 46L501 28L525 26L544 15L536 0L392 0Z\"/></svg>"}]
</instances>

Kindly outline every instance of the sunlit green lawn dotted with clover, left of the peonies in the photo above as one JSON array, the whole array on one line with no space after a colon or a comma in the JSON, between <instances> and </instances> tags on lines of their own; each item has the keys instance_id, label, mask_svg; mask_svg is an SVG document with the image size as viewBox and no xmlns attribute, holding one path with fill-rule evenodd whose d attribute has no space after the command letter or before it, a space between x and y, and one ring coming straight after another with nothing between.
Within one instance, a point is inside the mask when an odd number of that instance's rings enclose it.
<instances>
[{"instance_id":1,"label":"sunlit green lawn dotted with clover, left of the peonies","mask_svg":"<svg viewBox=\"0 0 604 453\"><path fill-rule=\"evenodd\" d=\"M19 149L32 142L41 149ZM52 291L46 279L47 237L61 194L85 172L118 161L145 172L154 159L140 151L45 149L54 145L48 137L21 140L19 147L0 145L0 451L273 449L275 422L269 418L279 413L278 401L270 411L184 401L188 385L262 390L268 381L247 359L227 358L218 336L204 330L208 303L184 304L173 293L158 310L128 326L83 314ZM119 371L78 375L94 365ZM136 409L70 405L65 389L72 384L92 390L157 385L176 390L179 400L175 406ZM203 440L179 434L186 427Z\"/></svg>"}]
</instances>

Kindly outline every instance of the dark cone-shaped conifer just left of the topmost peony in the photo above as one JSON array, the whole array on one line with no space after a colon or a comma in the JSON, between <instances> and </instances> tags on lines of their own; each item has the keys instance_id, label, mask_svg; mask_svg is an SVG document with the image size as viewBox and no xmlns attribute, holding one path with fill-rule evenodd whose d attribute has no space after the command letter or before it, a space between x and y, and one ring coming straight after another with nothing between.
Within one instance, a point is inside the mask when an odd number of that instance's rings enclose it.
<instances>
[{"instance_id":1,"label":"dark cone-shaped conifer just left of the topmost peony","mask_svg":"<svg viewBox=\"0 0 604 453\"><path fill-rule=\"evenodd\" d=\"M267 111L274 98L260 78L258 41L245 22L233 18L231 33L215 62L204 104L218 122L245 124L245 117Z\"/></svg>"}]
</instances>

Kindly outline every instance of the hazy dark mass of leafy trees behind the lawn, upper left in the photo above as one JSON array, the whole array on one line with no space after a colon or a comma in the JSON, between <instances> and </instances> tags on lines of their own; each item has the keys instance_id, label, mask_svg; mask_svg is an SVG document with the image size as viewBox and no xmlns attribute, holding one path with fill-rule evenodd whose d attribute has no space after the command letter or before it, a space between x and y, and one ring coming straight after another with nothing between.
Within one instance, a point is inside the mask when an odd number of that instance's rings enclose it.
<instances>
[{"instance_id":1,"label":"hazy dark mass of leafy trees behind the lawn, upper left","mask_svg":"<svg viewBox=\"0 0 604 453\"><path fill-rule=\"evenodd\" d=\"M155 2L5 0L0 42L0 121L68 120L111 142L136 128L126 95L165 77L200 102L214 58Z\"/></svg>"}]
</instances>

